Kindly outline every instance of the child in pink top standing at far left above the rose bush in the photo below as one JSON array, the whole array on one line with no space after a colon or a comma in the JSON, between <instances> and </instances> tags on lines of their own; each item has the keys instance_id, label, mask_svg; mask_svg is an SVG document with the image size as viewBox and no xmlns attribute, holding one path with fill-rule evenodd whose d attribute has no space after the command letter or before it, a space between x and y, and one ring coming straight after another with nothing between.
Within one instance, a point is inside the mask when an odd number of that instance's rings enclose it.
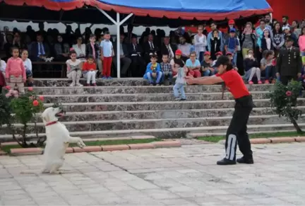
<instances>
[{"instance_id":1,"label":"child in pink top standing at far left above the rose bush","mask_svg":"<svg viewBox=\"0 0 305 206\"><path fill-rule=\"evenodd\" d=\"M6 82L14 89L16 86L20 93L24 93L24 83L26 81L25 67L23 60L19 58L19 49L12 48L13 57L6 63Z\"/></svg>"}]
</instances>

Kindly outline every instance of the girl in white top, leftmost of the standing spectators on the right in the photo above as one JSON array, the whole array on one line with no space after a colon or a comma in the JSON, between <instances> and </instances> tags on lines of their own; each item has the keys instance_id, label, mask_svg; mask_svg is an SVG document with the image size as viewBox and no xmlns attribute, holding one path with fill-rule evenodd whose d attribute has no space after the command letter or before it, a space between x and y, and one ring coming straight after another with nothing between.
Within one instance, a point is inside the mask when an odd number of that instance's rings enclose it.
<instances>
[{"instance_id":1,"label":"girl in white top, leftmost of the standing spectators on the right","mask_svg":"<svg viewBox=\"0 0 305 206\"><path fill-rule=\"evenodd\" d=\"M203 61L203 54L206 50L206 46L208 45L207 38L203 34L203 25L198 26L198 33L194 36L194 46L196 56L199 59L199 62Z\"/></svg>"}]
</instances>

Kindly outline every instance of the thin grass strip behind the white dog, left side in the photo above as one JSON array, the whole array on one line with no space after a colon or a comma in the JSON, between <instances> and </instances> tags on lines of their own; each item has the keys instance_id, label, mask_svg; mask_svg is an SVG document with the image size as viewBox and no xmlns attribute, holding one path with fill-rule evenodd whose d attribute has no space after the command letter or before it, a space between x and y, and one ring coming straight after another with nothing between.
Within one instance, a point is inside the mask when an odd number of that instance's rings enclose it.
<instances>
[{"instance_id":1,"label":"thin grass strip behind the white dog, left side","mask_svg":"<svg viewBox=\"0 0 305 206\"><path fill-rule=\"evenodd\" d=\"M160 138L155 139L120 139L120 140L104 140L85 142L86 146L102 146L102 145L117 145L117 144L144 144L150 142L162 141ZM69 147L78 147L77 144L69 144ZM2 151L10 152L11 149L22 148L20 145L5 145L1 146Z\"/></svg>"}]
</instances>

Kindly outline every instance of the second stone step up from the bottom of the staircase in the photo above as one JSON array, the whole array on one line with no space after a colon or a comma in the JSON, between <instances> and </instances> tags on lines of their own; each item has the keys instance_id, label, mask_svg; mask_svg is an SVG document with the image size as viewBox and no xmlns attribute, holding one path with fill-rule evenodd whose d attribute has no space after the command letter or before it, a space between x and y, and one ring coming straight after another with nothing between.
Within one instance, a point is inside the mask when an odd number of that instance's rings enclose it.
<instances>
[{"instance_id":1,"label":"second stone step up from the bottom of the staircase","mask_svg":"<svg viewBox=\"0 0 305 206\"><path fill-rule=\"evenodd\" d=\"M66 125L70 132L100 131L100 130L145 130L179 127L214 127L229 125L232 117L213 118L180 118L180 119L150 119L150 120L92 120L78 122L61 122ZM305 117L299 118L298 122L304 122ZM279 118L278 115L257 115L249 118L249 125L273 125L285 124L286 118ZM23 125L15 124L17 128ZM0 130L0 135L5 135L9 131L6 125ZM44 132L44 124L37 123L37 132ZM34 124L28 124L27 133L35 133Z\"/></svg>"}]
</instances>

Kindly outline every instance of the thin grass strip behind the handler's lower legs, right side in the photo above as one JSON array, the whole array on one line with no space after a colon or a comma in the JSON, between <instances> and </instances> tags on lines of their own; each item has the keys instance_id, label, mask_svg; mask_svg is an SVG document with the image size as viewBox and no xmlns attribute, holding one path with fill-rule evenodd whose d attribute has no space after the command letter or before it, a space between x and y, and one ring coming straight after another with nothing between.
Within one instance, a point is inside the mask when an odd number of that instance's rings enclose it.
<instances>
[{"instance_id":1,"label":"thin grass strip behind the handler's lower legs, right side","mask_svg":"<svg viewBox=\"0 0 305 206\"><path fill-rule=\"evenodd\" d=\"M249 135L250 139L254 138L268 138L268 137L298 137L300 134L297 132L272 132L272 133L258 133ZM225 139L225 136L211 136L211 137L198 137L197 139L206 142L219 142Z\"/></svg>"}]
</instances>

